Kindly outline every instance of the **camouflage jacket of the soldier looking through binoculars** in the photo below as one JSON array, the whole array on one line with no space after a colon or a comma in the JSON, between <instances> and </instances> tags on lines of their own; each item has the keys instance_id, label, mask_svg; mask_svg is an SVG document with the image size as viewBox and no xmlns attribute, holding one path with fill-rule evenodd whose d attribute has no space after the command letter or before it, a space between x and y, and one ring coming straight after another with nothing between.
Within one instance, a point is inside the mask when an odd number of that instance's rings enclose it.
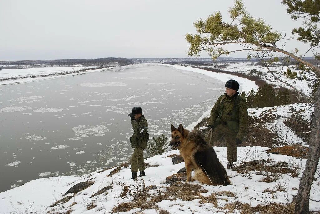
<instances>
[{"instance_id":1,"label":"camouflage jacket of the soldier looking through binoculars","mask_svg":"<svg viewBox=\"0 0 320 214\"><path fill-rule=\"evenodd\" d=\"M147 148L149 140L148 122L144 115L141 115L141 117L137 120L131 120L130 123L132 124L133 129L133 135L130 138L131 147Z\"/></svg>"}]
</instances>

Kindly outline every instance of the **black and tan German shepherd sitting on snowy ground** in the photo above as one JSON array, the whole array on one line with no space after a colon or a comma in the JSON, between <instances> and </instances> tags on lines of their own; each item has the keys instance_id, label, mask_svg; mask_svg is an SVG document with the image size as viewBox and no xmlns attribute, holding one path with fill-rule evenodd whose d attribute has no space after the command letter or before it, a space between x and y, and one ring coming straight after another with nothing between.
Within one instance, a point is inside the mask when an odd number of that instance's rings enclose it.
<instances>
[{"instance_id":1,"label":"black and tan German shepherd sitting on snowy ground","mask_svg":"<svg viewBox=\"0 0 320 214\"><path fill-rule=\"evenodd\" d=\"M179 149L187 170L187 180L191 180L191 170L195 170L195 179L207 185L229 185L225 168L222 166L213 147L198 133L185 130L182 124L176 129L171 124L171 142L173 150Z\"/></svg>"}]
</instances>

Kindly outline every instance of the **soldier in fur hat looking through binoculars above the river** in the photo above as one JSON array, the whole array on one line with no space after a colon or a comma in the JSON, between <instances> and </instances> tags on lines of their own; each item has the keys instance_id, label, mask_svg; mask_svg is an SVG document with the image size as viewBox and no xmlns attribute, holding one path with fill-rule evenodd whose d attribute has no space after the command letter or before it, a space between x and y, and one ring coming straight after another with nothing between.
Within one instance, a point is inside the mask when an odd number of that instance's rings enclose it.
<instances>
[{"instance_id":1,"label":"soldier in fur hat looking through binoculars above the river","mask_svg":"<svg viewBox=\"0 0 320 214\"><path fill-rule=\"evenodd\" d=\"M138 170L140 170L141 176L146 176L144 170L146 169L143 159L143 150L148 146L149 133L148 122L144 115L142 115L142 108L133 107L131 114L128 114L131 118L133 135L130 137L131 148L134 148L131 156L131 172L132 178L137 179Z\"/></svg>"}]
</instances>

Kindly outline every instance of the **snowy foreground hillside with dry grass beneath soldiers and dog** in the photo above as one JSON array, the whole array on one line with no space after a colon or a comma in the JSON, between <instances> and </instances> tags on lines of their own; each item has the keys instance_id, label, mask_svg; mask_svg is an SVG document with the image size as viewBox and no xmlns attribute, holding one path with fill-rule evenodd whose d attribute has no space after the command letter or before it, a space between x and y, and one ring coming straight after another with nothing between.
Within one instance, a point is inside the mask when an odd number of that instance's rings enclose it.
<instances>
[{"instance_id":1,"label":"snowy foreground hillside with dry grass beneath soldiers and dog","mask_svg":"<svg viewBox=\"0 0 320 214\"><path fill-rule=\"evenodd\" d=\"M249 115L259 119L267 129L279 124L282 136L289 133L291 137L283 142L290 146L306 143L300 132L286 126L285 118L299 116L308 121L311 112L312 108L301 103L249 109ZM197 127L204 129L201 123ZM226 148L215 146L214 149L226 167ZM287 149L287 155L269 149L240 145L235 168L227 170L232 182L229 186L200 185L198 181L186 184L185 172L179 171L184 163L173 164L172 159L179 157L179 151L173 150L146 159L146 177L137 181L129 179L129 163L80 178L65 176L30 181L0 193L0 213L266 213L271 210L281 213L292 209L306 159L301 158L303 152L297 155L295 149L291 152ZM310 210L314 211L320 211L319 182L315 178L310 193Z\"/></svg>"}]
</instances>

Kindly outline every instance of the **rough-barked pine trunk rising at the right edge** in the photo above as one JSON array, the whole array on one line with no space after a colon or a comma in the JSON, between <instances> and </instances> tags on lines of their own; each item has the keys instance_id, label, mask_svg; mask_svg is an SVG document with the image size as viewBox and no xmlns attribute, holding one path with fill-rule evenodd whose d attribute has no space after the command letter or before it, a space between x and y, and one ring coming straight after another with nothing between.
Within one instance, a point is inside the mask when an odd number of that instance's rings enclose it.
<instances>
[{"instance_id":1,"label":"rough-barked pine trunk rising at the right edge","mask_svg":"<svg viewBox=\"0 0 320 214\"><path fill-rule=\"evenodd\" d=\"M315 97L315 109L311 128L310 145L306 167L300 179L299 191L295 199L295 214L309 213L310 189L320 157L320 84Z\"/></svg>"}]
</instances>

